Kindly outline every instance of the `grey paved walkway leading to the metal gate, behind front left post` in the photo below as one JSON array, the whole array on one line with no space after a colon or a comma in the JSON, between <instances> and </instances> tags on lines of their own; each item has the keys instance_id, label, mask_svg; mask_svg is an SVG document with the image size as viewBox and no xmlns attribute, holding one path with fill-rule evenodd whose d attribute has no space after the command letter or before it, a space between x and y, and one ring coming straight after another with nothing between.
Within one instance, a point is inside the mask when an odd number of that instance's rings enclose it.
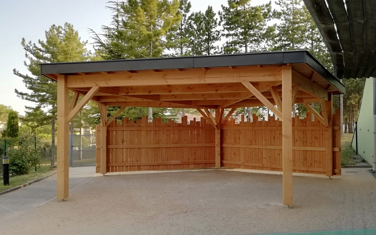
<instances>
[{"instance_id":1,"label":"grey paved walkway leading to the metal gate, behind front left post","mask_svg":"<svg viewBox=\"0 0 376 235\"><path fill-rule=\"evenodd\" d=\"M95 167L69 168L69 190L95 176ZM24 188L0 195L0 224L56 199L56 174Z\"/></svg>"}]
</instances>

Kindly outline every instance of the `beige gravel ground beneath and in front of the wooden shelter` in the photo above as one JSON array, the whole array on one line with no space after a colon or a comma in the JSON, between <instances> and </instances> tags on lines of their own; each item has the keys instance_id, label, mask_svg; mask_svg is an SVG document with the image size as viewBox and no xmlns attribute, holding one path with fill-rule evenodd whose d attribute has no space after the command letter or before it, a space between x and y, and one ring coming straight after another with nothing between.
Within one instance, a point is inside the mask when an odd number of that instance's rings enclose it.
<instances>
[{"instance_id":1,"label":"beige gravel ground beneath and in front of the wooden shelter","mask_svg":"<svg viewBox=\"0 0 376 235\"><path fill-rule=\"evenodd\" d=\"M200 170L93 177L12 220L4 234L241 234L376 227L376 180L364 168L343 176L294 174L294 206L282 175Z\"/></svg>"}]
</instances>

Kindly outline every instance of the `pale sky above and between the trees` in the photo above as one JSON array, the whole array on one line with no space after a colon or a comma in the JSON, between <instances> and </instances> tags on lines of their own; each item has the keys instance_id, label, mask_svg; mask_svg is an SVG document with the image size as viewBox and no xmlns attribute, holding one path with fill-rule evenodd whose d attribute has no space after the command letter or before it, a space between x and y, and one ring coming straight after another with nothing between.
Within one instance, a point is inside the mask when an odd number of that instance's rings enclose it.
<instances>
[{"instance_id":1,"label":"pale sky above and between the trees","mask_svg":"<svg viewBox=\"0 0 376 235\"><path fill-rule=\"evenodd\" d=\"M111 11L106 9L108 0L0 0L0 104L25 115L25 106L35 103L17 97L14 89L28 92L22 79L13 69L28 73L24 66L25 51L21 39L38 42L45 39L45 30L52 24L73 24L83 41L93 42L88 29L101 32L102 25L111 22ZM190 0L191 12L205 11L208 5L214 12L226 5L227 0ZM268 0L252 0L252 5L268 3ZM88 45L93 50L92 45Z\"/></svg>"}]
</instances>

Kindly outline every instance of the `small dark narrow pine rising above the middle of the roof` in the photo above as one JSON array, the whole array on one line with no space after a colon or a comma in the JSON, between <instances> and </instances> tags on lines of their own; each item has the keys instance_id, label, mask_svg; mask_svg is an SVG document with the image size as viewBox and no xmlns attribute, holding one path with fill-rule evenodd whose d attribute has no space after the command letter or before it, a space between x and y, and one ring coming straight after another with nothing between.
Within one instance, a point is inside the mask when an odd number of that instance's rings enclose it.
<instances>
[{"instance_id":1,"label":"small dark narrow pine rising above the middle of the roof","mask_svg":"<svg viewBox=\"0 0 376 235\"><path fill-rule=\"evenodd\" d=\"M217 30L218 19L215 18L212 6L208 6L205 13L193 13L191 18L191 50L193 55L213 55L220 53L215 45L221 39L221 31Z\"/></svg>"}]
</instances>

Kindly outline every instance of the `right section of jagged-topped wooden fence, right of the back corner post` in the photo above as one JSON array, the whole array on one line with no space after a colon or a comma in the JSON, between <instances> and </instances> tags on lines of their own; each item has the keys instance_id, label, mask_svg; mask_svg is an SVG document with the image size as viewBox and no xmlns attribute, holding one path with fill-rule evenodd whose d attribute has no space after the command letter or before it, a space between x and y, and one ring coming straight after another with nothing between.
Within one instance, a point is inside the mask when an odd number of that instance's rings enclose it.
<instances>
[{"instance_id":1,"label":"right section of jagged-topped wooden fence, right of the back corner post","mask_svg":"<svg viewBox=\"0 0 376 235\"><path fill-rule=\"evenodd\" d=\"M334 120L339 116L334 114ZM259 121L235 123L231 118L221 130L221 167L282 171L282 121L268 117ZM293 171L325 174L325 127L317 119L293 118ZM341 173L339 126L334 126L334 173ZM339 142L338 142L339 140Z\"/></svg>"}]
</instances>

